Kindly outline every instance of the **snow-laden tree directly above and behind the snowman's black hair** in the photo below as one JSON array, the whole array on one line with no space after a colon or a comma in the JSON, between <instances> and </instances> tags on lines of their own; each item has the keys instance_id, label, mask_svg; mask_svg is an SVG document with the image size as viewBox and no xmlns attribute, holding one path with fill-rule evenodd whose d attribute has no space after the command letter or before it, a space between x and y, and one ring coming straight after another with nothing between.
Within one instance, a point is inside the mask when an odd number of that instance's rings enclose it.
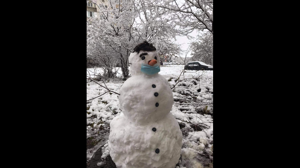
<instances>
[{"instance_id":1,"label":"snow-laden tree directly above and behind the snowman's black hair","mask_svg":"<svg viewBox=\"0 0 300 168\"><path fill-rule=\"evenodd\" d=\"M169 17L171 12L153 6L147 7L143 1L136 2L139 13L136 28L140 39L153 43L162 56L180 54L181 50L174 41L175 36L181 32Z\"/></svg>"}]
</instances>

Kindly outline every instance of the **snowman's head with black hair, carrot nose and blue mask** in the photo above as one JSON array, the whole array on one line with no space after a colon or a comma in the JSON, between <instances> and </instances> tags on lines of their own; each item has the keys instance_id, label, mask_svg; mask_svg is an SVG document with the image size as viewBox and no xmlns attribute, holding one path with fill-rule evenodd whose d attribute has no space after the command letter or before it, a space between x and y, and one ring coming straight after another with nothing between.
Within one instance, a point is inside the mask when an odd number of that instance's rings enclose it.
<instances>
[{"instance_id":1,"label":"snowman's head with black hair, carrot nose and blue mask","mask_svg":"<svg viewBox=\"0 0 300 168\"><path fill-rule=\"evenodd\" d=\"M153 44L147 41L137 45L129 55L131 75L154 75L160 71L160 59Z\"/></svg>"}]
</instances>

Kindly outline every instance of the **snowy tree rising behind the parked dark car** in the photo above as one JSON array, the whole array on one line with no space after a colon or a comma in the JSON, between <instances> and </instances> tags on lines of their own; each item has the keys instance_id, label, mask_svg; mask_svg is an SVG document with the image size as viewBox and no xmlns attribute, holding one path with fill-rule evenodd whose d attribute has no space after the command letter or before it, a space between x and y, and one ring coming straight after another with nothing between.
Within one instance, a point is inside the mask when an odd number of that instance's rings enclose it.
<instances>
[{"instance_id":1,"label":"snowy tree rising behind the parked dark car","mask_svg":"<svg viewBox=\"0 0 300 168\"><path fill-rule=\"evenodd\" d=\"M191 61L202 61L213 66L213 34L207 33L199 37L199 42L193 42Z\"/></svg>"}]
</instances>

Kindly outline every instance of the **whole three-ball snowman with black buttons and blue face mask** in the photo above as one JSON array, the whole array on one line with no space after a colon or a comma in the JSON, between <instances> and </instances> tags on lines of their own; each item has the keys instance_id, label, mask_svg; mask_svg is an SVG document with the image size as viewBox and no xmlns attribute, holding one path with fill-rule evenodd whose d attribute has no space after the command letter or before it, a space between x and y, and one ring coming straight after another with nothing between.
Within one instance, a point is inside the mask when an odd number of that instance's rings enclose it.
<instances>
[{"instance_id":1,"label":"whole three-ball snowman with black buttons and blue face mask","mask_svg":"<svg viewBox=\"0 0 300 168\"><path fill-rule=\"evenodd\" d=\"M123 111L110 123L108 149L118 168L174 168L182 132L170 113L173 94L158 72L160 59L147 41L129 55L130 74L120 88Z\"/></svg>"}]
</instances>

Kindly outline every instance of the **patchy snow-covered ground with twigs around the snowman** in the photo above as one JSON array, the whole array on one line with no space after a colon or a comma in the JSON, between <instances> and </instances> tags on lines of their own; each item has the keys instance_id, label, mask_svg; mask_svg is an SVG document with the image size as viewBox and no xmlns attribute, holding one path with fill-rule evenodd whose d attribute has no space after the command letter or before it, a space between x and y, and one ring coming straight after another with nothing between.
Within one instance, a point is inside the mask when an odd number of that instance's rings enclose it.
<instances>
[{"instance_id":1,"label":"patchy snow-covered ground with twigs around the snowman","mask_svg":"<svg viewBox=\"0 0 300 168\"><path fill-rule=\"evenodd\" d=\"M181 158L176 168L213 167L213 71L191 71L182 73L183 65L161 66L159 74L170 83L174 103L171 113L178 120L183 134ZM118 70L118 69L116 69ZM87 76L102 69L87 69ZM178 79L178 77L180 78ZM109 155L107 140L109 123L122 113L118 95L106 93L108 89L119 93L124 81L121 70L117 77L96 84L87 79L87 165L97 149L102 148L102 158ZM103 95L104 94L104 95Z\"/></svg>"}]
</instances>

